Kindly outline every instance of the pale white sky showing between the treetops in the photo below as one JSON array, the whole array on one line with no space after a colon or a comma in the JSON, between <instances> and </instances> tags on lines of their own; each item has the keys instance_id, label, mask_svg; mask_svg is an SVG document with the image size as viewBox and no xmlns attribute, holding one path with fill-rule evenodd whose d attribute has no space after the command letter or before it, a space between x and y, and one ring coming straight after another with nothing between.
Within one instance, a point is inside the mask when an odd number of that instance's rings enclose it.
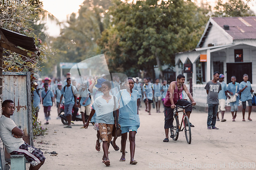
<instances>
[{"instance_id":1,"label":"pale white sky showing between the treetops","mask_svg":"<svg viewBox=\"0 0 256 170\"><path fill-rule=\"evenodd\" d=\"M53 14L59 21L66 21L67 16L77 13L80 9L80 5L83 0L41 0L44 5L44 9ZM204 0L207 1L207 0ZM72 2L72 3L71 3ZM215 3L216 0L208 0L208 3ZM252 1L250 8L256 13L256 1ZM60 28L56 26L56 23L47 21L48 30L46 31L50 36L58 36Z\"/></svg>"}]
</instances>

